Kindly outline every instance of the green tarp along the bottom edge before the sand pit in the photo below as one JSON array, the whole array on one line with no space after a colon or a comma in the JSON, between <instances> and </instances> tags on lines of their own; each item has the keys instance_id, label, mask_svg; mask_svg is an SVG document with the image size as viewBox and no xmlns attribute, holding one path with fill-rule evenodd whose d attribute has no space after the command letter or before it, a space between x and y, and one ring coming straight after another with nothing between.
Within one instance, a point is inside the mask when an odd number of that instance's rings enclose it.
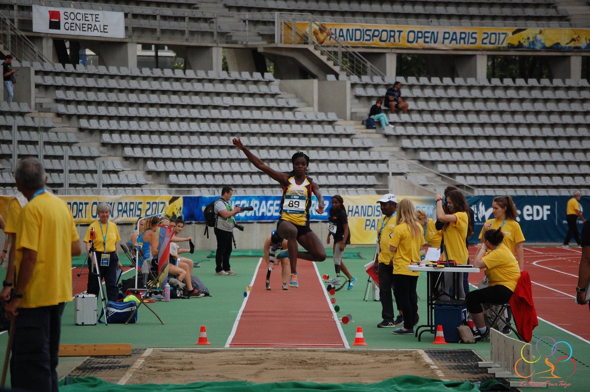
<instances>
[{"instance_id":1,"label":"green tarp along the bottom edge before the sand pit","mask_svg":"<svg viewBox=\"0 0 590 392\"><path fill-rule=\"evenodd\" d=\"M386 369L383 372L386 373ZM146 374L146 378L149 375ZM434 378L415 377L402 375L389 378L376 384L318 384L318 383L267 383L254 384L244 381L221 381L217 383L190 383L190 384L131 384L117 385L105 383L96 377L67 377L65 385L60 387L61 392L93 391L93 392L183 392L183 391L207 391L207 392L260 392L260 391L366 391L366 392L444 392L464 391L477 392L475 384L468 381L440 381Z\"/></svg>"}]
</instances>

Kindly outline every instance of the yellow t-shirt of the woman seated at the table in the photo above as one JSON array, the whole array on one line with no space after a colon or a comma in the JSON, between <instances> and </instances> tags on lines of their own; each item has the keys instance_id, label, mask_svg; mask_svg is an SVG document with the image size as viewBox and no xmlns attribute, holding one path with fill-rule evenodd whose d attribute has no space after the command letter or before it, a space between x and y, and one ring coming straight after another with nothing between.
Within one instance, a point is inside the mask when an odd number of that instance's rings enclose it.
<instances>
[{"instance_id":1,"label":"yellow t-shirt of the woman seated at the table","mask_svg":"<svg viewBox=\"0 0 590 392\"><path fill-rule=\"evenodd\" d=\"M487 280L490 286L503 285L514 291L520 278L520 268L514 253L504 243L490 250L481 258L486 264Z\"/></svg>"}]
</instances>

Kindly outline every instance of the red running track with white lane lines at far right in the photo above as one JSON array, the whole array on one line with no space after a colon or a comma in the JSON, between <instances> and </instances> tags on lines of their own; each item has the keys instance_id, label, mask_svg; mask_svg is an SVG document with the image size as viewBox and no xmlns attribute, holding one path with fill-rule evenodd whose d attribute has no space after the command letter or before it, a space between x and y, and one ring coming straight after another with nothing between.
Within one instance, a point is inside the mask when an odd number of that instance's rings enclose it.
<instances>
[{"instance_id":1,"label":"red running track with white lane lines at far right","mask_svg":"<svg viewBox=\"0 0 590 392\"><path fill-rule=\"evenodd\" d=\"M470 246L474 259L475 246ZM525 246L525 269L529 272L537 316L558 328L590 341L588 306L575 303L581 248L563 249L555 246L533 248ZM477 285L483 272L469 274L471 284Z\"/></svg>"}]
</instances>

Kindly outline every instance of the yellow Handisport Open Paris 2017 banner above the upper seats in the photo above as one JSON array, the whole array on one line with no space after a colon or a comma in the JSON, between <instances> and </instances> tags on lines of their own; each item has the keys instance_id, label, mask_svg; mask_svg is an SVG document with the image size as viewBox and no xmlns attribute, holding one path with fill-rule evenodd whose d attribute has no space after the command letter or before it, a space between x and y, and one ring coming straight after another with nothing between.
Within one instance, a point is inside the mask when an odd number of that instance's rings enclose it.
<instances>
[{"instance_id":1,"label":"yellow Handisport Open Paris 2017 banner above the upper seats","mask_svg":"<svg viewBox=\"0 0 590 392\"><path fill-rule=\"evenodd\" d=\"M430 27L296 22L283 25L283 44L441 50L590 50L590 29Z\"/></svg>"}]
</instances>

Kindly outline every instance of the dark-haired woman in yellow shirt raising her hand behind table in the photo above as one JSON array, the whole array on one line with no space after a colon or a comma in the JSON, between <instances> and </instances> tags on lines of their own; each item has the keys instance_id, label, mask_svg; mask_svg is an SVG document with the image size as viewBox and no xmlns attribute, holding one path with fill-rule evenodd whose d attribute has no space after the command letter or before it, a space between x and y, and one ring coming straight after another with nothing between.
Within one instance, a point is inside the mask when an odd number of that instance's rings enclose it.
<instances>
[{"instance_id":1,"label":"dark-haired woman in yellow shirt raising her hand behind table","mask_svg":"<svg viewBox=\"0 0 590 392\"><path fill-rule=\"evenodd\" d=\"M454 260L459 265L466 265L469 258L467 246L465 246L465 239L473 235L473 230L469 224L469 206L463 193L458 190L453 190L447 195L447 210L442 207L442 195L435 196L437 200L437 219L444 222L442 226L442 238L444 238L444 246L447 250L449 260ZM444 256L444 252L442 256ZM457 274L460 276L453 276ZM448 293L448 289L453 284L453 278L458 279L458 282L463 282L463 272L444 272L444 284L442 289ZM458 285L458 298L465 298L465 291L463 284Z\"/></svg>"}]
</instances>

